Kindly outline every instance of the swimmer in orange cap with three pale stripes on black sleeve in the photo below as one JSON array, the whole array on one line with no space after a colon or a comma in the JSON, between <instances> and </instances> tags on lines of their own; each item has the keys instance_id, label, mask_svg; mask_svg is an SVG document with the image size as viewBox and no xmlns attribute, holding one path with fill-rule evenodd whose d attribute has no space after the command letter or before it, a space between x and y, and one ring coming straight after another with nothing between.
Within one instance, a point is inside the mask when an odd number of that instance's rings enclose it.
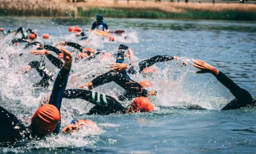
<instances>
[{"instance_id":1,"label":"swimmer in orange cap with three pale stripes on black sleeve","mask_svg":"<svg viewBox=\"0 0 256 154\"><path fill-rule=\"evenodd\" d=\"M135 112L149 112L154 110L154 105L147 97L137 97L133 100L131 105L123 107L115 98L100 94L95 91L83 89L67 89L63 93L63 98L68 99L83 99L95 106L87 113L108 115L111 113L135 113Z\"/></svg>"}]
</instances>

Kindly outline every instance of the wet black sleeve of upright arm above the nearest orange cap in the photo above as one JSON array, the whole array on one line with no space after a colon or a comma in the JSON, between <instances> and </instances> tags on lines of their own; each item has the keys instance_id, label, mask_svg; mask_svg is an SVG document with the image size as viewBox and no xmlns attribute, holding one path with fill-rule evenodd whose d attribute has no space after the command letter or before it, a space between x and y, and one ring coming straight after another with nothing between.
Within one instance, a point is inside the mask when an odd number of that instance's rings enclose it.
<instances>
[{"instance_id":1,"label":"wet black sleeve of upright arm above the nearest orange cap","mask_svg":"<svg viewBox=\"0 0 256 154\"><path fill-rule=\"evenodd\" d=\"M68 83L69 71L70 70L62 68L59 71L59 74L56 77L56 80L53 85L53 91L51 94L49 104L56 106L58 110L60 110L62 95ZM60 122L58 126L55 128L55 130L53 131L53 133L59 133L59 129L60 129Z\"/></svg>"}]
</instances>

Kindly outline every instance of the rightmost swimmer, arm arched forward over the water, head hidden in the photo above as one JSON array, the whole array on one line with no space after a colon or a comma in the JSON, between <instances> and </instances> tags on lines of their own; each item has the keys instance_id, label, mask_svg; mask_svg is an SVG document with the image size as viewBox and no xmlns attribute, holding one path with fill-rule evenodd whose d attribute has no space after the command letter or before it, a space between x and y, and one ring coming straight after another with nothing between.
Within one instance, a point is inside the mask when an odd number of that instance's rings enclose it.
<instances>
[{"instance_id":1,"label":"rightmost swimmer, arm arched forward over the water, head hidden","mask_svg":"<svg viewBox=\"0 0 256 154\"><path fill-rule=\"evenodd\" d=\"M235 99L230 101L227 105L225 105L221 110L232 110L232 109L239 109L241 107L246 106L256 106L256 100L254 100L251 94L239 87L235 84L229 77L227 77L223 72L219 71L215 67L207 64L202 60L193 60L194 67L201 69L196 73L211 73L213 74L217 80L222 83L225 87L227 87L230 92L235 96Z\"/></svg>"}]
</instances>

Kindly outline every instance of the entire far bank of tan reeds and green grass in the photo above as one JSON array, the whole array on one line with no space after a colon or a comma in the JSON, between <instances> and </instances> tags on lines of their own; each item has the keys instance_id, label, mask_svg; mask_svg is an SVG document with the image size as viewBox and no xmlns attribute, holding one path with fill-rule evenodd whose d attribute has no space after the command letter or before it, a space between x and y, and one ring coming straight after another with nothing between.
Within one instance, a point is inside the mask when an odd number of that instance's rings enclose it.
<instances>
[{"instance_id":1,"label":"entire far bank of tan reeds and green grass","mask_svg":"<svg viewBox=\"0 0 256 154\"><path fill-rule=\"evenodd\" d=\"M26 4L24 4L26 3ZM256 20L254 4L211 4L152 1L87 0L0 0L0 15L50 17L163 18Z\"/></svg>"}]
</instances>

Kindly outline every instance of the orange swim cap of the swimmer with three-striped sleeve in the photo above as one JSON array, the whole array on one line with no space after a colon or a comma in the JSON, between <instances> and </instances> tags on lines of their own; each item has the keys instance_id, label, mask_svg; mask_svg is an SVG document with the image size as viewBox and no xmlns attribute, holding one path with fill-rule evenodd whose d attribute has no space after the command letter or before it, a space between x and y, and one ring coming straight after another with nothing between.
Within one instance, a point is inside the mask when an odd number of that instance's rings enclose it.
<instances>
[{"instance_id":1,"label":"orange swim cap of the swimmer with three-striped sleeve","mask_svg":"<svg viewBox=\"0 0 256 154\"><path fill-rule=\"evenodd\" d=\"M147 97L137 97L132 103L132 106L134 105L139 107L140 112L149 112L154 110L154 105Z\"/></svg>"}]
</instances>

